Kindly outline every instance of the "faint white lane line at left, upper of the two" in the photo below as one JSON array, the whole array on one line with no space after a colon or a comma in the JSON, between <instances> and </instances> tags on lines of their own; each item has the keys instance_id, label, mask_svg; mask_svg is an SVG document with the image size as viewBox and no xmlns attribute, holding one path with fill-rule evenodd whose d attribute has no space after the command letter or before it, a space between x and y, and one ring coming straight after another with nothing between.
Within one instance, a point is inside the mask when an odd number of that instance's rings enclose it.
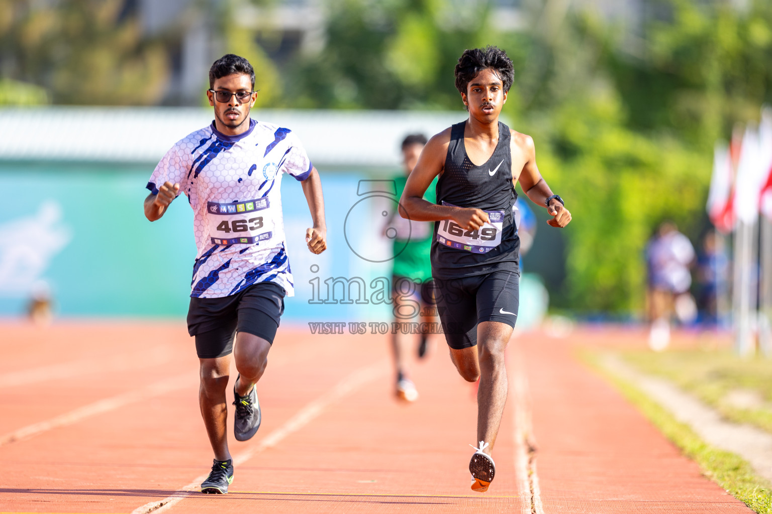
<instances>
[{"instance_id":1,"label":"faint white lane line at left, upper of the two","mask_svg":"<svg viewBox=\"0 0 772 514\"><path fill-rule=\"evenodd\" d=\"M63 380L83 375L97 375L113 371L126 371L137 368L150 368L171 361L174 352L169 346L152 348L141 354L136 351L112 355L109 357L89 358L79 361L61 362L59 364L39 366L21 371L9 371L0 374L0 388L15 385L34 384L41 381Z\"/></svg>"}]
</instances>

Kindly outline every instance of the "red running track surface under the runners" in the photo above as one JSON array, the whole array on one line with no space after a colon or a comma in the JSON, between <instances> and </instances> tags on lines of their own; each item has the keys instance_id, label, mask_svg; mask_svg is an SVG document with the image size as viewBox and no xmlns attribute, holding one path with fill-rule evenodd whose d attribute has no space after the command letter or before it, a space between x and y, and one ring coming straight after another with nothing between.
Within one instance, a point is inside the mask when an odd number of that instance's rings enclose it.
<instances>
[{"instance_id":1,"label":"red running track surface under the runners","mask_svg":"<svg viewBox=\"0 0 772 514\"><path fill-rule=\"evenodd\" d=\"M510 344L485 494L466 469L475 389L442 339L413 363L421 398L405 405L386 336L282 328L258 386L260 431L231 440L227 496L195 492L212 454L183 322L5 323L0 350L0 512L750 512L574 361L566 340ZM527 432L539 445L530 463Z\"/></svg>"}]
</instances>

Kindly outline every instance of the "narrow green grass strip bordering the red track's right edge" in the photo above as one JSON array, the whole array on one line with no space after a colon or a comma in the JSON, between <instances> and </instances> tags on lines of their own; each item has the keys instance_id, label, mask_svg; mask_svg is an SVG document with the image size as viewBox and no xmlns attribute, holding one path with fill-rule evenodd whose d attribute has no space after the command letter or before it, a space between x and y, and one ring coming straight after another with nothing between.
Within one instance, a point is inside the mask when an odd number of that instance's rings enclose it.
<instances>
[{"instance_id":1,"label":"narrow green grass strip bordering the red track's right edge","mask_svg":"<svg viewBox=\"0 0 772 514\"><path fill-rule=\"evenodd\" d=\"M676 420L670 412L657 402L648 398L640 389L615 375L601 364L597 351L583 350L579 358L611 381L625 398L660 432L676 446L684 455L697 462L703 473L720 485L726 492L744 502L754 512L772 514L772 491L767 480L753 472L750 464L738 455L726 452L707 444L689 425Z\"/></svg>"}]
</instances>

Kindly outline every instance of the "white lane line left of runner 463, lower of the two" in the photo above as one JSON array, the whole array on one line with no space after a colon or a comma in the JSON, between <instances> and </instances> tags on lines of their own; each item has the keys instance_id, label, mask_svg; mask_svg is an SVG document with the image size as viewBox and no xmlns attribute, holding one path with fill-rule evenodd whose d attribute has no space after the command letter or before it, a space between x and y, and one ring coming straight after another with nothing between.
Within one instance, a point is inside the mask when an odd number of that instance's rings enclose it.
<instances>
[{"instance_id":1,"label":"white lane line left of runner 463, lower of the two","mask_svg":"<svg viewBox=\"0 0 772 514\"><path fill-rule=\"evenodd\" d=\"M135 389L134 391L128 391L110 398L94 401L89 405L83 405L83 407L79 407L73 411L58 415L56 418L51 418L43 422L33 423L32 425L19 428L19 430L15 430L9 434L2 435L0 436L0 446L7 445L12 442L19 442L22 441L22 439L31 438L35 435L42 434L42 432L48 432L49 430L52 430L52 428L72 425L73 423L80 422L84 418L89 418L90 416L101 414L103 412L114 411L115 409L124 407L125 405L137 403L137 401L147 400L147 398L165 395L170 391L189 387L193 378L194 377L190 374L177 375L175 377L167 378L166 380L147 385L141 389Z\"/></svg>"}]
</instances>

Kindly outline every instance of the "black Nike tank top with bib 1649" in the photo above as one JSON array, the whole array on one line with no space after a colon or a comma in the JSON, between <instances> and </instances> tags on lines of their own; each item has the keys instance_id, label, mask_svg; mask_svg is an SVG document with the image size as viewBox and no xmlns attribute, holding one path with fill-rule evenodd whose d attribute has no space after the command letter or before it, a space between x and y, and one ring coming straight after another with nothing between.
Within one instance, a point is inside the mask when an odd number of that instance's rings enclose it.
<instances>
[{"instance_id":1,"label":"black Nike tank top with bib 1649","mask_svg":"<svg viewBox=\"0 0 772 514\"><path fill-rule=\"evenodd\" d=\"M482 166L475 166L466 155L465 127L466 121L451 126L445 170L437 182L437 203L489 211L491 222L499 224L470 232L462 231L452 221L435 222L432 276L437 278L471 277L518 268L520 238L512 213L517 193L512 185L510 128L499 122L499 143L493 155ZM500 211L503 219L499 218ZM485 246L496 242L493 237L499 226L500 243Z\"/></svg>"}]
</instances>

